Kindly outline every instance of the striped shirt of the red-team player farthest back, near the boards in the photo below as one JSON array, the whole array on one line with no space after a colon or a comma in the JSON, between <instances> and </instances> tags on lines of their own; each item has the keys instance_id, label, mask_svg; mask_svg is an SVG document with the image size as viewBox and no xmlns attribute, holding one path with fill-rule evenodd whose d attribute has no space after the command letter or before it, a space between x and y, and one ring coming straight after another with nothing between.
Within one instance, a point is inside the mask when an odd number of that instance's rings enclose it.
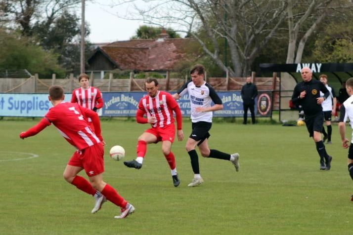
<instances>
[{"instance_id":1,"label":"striped shirt of the red-team player farthest back, near the boards","mask_svg":"<svg viewBox=\"0 0 353 235\"><path fill-rule=\"evenodd\" d=\"M86 90L80 87L72 92L71 103L78 103L90 110L94 107L100 109L103 107L102 94L94 86L90 86Z\"/></svg>"}]
</instances>

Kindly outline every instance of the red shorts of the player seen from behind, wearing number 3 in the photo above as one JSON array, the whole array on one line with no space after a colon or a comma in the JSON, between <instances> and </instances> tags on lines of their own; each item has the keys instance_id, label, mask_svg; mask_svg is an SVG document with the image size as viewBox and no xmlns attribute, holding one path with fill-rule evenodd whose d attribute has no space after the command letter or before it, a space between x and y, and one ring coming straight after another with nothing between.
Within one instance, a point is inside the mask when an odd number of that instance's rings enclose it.
<instances>
[{"instance_id":1,"label":"red shorts of the player seen from behind, wearing number 3","mask_svg":"<svg viewBox=\"0 0 353 235\"><path fill-rule=\"evenodd\" d=\"M88 176L95 176L104 172L103 156L104 148L102 143L99 143L76 151L67 164L82 167Z\"/></svg>"}]
</instances>

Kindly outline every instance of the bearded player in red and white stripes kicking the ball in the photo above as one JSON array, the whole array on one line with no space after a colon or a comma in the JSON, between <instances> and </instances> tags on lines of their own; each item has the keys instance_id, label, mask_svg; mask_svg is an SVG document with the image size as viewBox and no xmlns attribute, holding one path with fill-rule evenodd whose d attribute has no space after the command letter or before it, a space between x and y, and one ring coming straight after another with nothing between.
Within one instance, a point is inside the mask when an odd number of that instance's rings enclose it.
<instances>
[{"instance_id":1,"label":"bearded player in red and white stripes kicking the ball","mask_svg":"<svg viewBox=\"0 0 353 235\"><path fill-rule=\"evenodd\" d=\"M144 96L138 103L136 121L138 123L150 123L151 128L145 130L138 137L136 160L124 161L124 164L128 167L140 169L147 152L147 144L162 141L162 152L171 168L173 184L177 187L180 181L177 176L175 157L171 149L175 137L173 111L176 113L177 138L179 141L184 138L181 129L181 111L170 93L158 90L157 79L147 78L145 88L148 95Z\"/></svg>"}]
</instances>

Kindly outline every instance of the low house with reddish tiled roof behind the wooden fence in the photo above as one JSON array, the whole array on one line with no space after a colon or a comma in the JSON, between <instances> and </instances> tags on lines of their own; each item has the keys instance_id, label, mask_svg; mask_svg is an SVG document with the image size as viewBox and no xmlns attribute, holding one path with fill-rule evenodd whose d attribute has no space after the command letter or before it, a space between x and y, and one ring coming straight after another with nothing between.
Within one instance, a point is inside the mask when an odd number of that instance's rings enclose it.
<instances>
[{"instance_id":1,"label":"low house with reddish tiled roof behind the wooden fence","mask_svg":"<svg viewBox=\"0 0 353 235\"><path fill-rule=\"evenodd\" d=\"M105 73L116 69L166 73L173 71L179 62L197 58L197 55L190 54L197 51L195 47L200 47L195 40L167 37L162 32L158 39L132 39L99 45L88 59L86 72L93 72L94 78L103 78Z\"/></svg>"}]
</instances>

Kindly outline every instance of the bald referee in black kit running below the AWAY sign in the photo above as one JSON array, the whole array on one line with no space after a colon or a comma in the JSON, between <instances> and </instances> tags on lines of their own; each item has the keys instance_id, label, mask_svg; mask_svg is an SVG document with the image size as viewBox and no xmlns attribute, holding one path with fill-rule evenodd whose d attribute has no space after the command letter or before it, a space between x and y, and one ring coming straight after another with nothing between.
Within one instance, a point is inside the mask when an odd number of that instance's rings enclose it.
<instances>
[{"instance_id":1,"label":"bald referee in black kit running below the AWAY sign","mask_svg":"<svg viewBox=\"0 0 353 235\"><path fill-rule=\"evenodd\" d=\"M294 87L292 102L303 107L309 137L314 140L316 151L320 156L320 170L329 170L332 157L327 154L321 140L324 119L321 103L330 92L321 81L312 79L312 72L308 67L301 70L301 76L303 81ZM323 97L320 97L320 91L324 93Z\"/></svg>"}]
</instances>

